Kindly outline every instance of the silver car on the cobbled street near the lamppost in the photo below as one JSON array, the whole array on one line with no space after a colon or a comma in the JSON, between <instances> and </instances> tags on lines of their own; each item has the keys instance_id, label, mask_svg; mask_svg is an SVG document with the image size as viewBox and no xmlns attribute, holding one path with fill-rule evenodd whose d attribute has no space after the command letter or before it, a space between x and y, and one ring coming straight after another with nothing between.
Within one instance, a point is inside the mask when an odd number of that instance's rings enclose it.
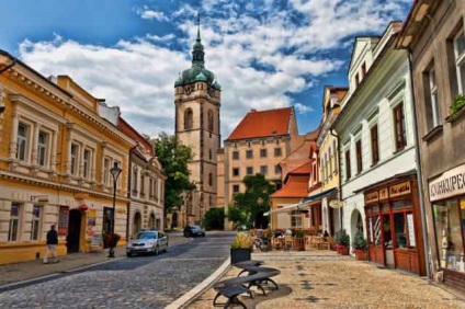
<instances>
[{"instance_id":1,"label":"silver car on the cobbled street near the lamppost","mask_svg":"<svg viewBox=\"0 0 465 309\"><path fill-rule=\"evenodd\" d=\"M131 258L139 253L152 253L157 255L168 248L168 237L160 231L138 232L126 245L126 256Z\"/></svg>"}]
</instances>

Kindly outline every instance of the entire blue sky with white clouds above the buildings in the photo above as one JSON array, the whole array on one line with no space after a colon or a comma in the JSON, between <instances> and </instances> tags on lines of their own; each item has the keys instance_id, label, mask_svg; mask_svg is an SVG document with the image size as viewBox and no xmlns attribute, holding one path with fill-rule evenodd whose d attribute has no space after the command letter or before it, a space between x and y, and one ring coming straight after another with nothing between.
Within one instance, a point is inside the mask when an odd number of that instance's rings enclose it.
<instances>
[{"instance_id":1,"label":"entire blue sky with white clouds above the buildings","mask_svg":"<svg viewBox=\"0 0 465 309\"><path fill-rule=\"evenodd\" d=\"M174 81L191 67L197 13L222 84L222 138L251 110L294 106L318 127L325 85L348 84L355 36L382 35L412 0L1 0L0 49L67 75L149 136L174 131Z\"/></svg>"}]
</instances>

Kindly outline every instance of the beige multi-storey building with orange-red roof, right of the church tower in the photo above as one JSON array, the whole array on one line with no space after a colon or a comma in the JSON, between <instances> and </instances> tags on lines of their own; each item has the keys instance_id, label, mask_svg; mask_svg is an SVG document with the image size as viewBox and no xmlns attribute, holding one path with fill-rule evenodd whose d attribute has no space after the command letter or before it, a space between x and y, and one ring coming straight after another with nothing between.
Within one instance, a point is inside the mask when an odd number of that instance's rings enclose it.
<instances>
[{"instance_id":1,"label":"beige multi-storey building with orange-red roof, right of the church tower","mask_svg":"<svg viewBox=\"0 0 465 309\"><path fill-rule=\"evenodd\" d=\"M217 152L218 206L227 213L234 194L245 192L246 175L263 174L281 188L280 162L294 150L295 138L302 144L293 107L250 111Z\"/></svg>"}]
</instances>

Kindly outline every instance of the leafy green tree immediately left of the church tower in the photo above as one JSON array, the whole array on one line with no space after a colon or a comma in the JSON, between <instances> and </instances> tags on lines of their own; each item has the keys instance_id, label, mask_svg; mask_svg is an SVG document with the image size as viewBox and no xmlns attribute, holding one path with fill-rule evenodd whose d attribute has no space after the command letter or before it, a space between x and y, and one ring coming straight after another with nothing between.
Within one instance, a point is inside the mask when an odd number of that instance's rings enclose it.
<instances>
[{"instance_id":1,"label":"leafy green tree immediately left of the church tower","mask_svg":"<svg viewBox=\"0 0 465 309\"><path fill-rule=\"evenodd\" d=\"M167 175L165 187L165 211L171 213L174 207L182 205L182 193L193 190L195 185L189 181L190 171L188 162L192 160L192 149L174 135L160 133L156 138L155 156L161 163Z\"/></svg>"}]
</instances>

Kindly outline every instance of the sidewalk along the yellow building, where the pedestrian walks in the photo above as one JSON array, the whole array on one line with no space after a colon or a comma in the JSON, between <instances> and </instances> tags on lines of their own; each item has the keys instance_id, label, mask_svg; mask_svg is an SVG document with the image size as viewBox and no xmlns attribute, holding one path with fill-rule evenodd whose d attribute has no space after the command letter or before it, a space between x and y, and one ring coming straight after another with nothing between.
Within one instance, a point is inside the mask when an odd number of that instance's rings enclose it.
<instances>
[{"instance_id":1,"label":"sidewalk along the yellow building, where the pedestrian walks","mask_svg":"<svg viewBox=\"0 0 465 309\"><path fill-rule=\"evenodd\" d=\"M178 243L188 242L189 239L182 237L182 234L169 236L169 245L172 247ZM45 250L45 248L44 248ZM55 264L43 264L41 260L34 260L16 264L0 265L0 287L2 285L16 283L21 281L32 279L46 275L52 275L60 272L67 272L75 268L80 268L98 263L104 263L109 261L115 261L118 259L126 258L126 247L118 247L115 249L114 259L109 259L109 250L101 250L89 253L72 253L64 256L59 256L59 263Z\"/></svg>"}]
</instances>

